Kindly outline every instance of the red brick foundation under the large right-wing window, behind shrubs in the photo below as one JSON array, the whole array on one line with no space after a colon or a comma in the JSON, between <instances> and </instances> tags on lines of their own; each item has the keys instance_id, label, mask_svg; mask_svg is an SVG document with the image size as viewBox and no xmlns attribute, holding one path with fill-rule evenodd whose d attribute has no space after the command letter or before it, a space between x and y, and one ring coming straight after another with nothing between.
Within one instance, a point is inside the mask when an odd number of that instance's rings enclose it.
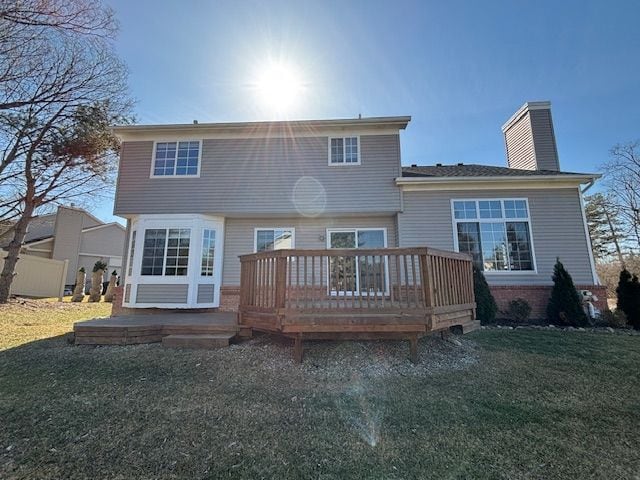
<instances>
[{"instance_id":1,"label":"red brick foundation under the large right-wing window, behind shrubs","mask_svg":"<svg viewBox=\"0 0 640 480\"><path fill-rule=\"evenodd\" d=\"M531 318L543 319L546 317L547 304L551 296L551 285L490 285L491 293L498 304L498 318L504 317L511 300L522 298L531 305ZM578 290L589 290L598 301L594 302L596 308L607 310L607 289L603 285L576 285Z\"/></svg>"}]
</instances>

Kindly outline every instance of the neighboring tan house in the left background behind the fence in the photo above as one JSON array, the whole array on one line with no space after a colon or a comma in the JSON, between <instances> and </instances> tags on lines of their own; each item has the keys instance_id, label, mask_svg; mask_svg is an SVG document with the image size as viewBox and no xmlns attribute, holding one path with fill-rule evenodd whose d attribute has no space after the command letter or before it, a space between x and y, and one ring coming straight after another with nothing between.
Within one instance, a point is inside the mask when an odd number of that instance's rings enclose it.
<instances>
[{"instance_id":1,"label":"neighboring tan house in the left background behind the fence","mask_svg":"<svg viewBox=\"0 0 640 480\"><path fill-rule=\"evenodd\" d=\"M76 281L76 272L88 272L102 260L108 272L122 270L125 229L117 222L104 223L75 207L58 207L56 213L35 217L29 222L23 253L54 260L69 260L66 285Z\"/></svg>"}]
</instances>

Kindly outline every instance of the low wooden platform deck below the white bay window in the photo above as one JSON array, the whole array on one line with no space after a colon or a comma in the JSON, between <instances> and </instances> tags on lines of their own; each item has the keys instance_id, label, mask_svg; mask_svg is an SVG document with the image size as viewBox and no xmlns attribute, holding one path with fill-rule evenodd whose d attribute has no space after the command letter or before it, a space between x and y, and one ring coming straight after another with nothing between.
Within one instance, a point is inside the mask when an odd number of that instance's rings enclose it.
<instances>
[{"instance_id":1,"label":"low wooden platform deck below the white bay window","mask_svg":"<svg viewBox=\"0 0 640 480\"><path fill-rule=\"evenodd\" d=\"M133 345L168 335L237 334L234 312L166 312L97 318L74 324L76 345Z\"/></svg>"}]
</instances>

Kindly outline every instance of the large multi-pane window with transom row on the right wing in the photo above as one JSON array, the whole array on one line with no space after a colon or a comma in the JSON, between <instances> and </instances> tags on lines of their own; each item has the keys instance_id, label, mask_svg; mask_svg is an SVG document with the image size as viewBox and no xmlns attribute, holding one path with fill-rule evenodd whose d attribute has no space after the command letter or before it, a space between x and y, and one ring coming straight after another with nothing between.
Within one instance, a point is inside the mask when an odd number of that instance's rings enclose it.
<instances>
[{"instance_id":1,"label":"large multi-pane window with transom row on the right wing","mask_svg":"<svg viewBox=\"0 0 640 480\"><path fill-rule=\"evenodd\" d=\"M453 200L459 252L486 272L534 271L531 220L526 199Z\"/></svg>"}]
</instances>

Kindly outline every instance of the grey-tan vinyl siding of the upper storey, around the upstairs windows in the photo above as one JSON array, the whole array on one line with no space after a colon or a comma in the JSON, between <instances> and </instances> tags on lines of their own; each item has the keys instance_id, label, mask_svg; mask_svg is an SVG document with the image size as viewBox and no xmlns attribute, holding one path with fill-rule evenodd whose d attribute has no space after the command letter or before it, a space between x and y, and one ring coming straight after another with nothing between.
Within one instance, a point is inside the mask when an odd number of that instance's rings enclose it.
<instances>
[{"instance_id":1,"label":"grey-tan vinyl siding of the upper storey, around the upstairs windows","mask_svg":"<svg viewBox=\"0 0 640 480\"><path fill-rule=\"evenodd\" d=\"M115 213L297 215L302 177L326 192L322 214L399 211L399 135L361 135L360 151L361 165L330 166L326 136L205 139L199 178L149 178L153 142L124 142Z\"/></svg>"}]
</instances>

